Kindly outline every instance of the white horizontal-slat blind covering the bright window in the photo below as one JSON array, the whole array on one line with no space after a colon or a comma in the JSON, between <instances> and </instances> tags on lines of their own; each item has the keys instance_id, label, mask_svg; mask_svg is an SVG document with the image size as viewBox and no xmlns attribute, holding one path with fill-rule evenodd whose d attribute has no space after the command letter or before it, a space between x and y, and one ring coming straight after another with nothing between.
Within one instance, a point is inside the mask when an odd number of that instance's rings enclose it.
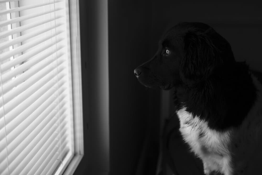
<instances>
[{"instance_id":1,"label":"white horizontal-slat blind covering the bright window","mask_svg":"<svg viewBox=\"0 0 262 175\"><path fill-rule=\"evenodd\" d=\"M0 0L0 175L61 174L74 154L68 0Z\"/></svg>"}]
</instances>

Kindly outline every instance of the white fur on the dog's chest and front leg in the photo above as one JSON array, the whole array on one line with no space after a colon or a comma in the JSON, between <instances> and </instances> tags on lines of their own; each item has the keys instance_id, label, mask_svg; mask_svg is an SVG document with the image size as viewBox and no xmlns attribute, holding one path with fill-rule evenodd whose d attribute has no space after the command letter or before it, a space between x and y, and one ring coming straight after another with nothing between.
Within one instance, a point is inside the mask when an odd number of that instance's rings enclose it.
<instances>
[{"instance_id":1,"label":"white fur on the dog's chest and front leg","mask_svg":"<svg viewBox=\"0 0 262 175\"><path fill-rule=\"evenodd\" d=\"M231 131L211 130L207 122L200 120L197 116L193 118L185 108L178 110L177 115L182 137L195 155L202 159L205 174L220 171L225 175L230 175L232 172L229 151Z\"/></svg>"}]
</instances>

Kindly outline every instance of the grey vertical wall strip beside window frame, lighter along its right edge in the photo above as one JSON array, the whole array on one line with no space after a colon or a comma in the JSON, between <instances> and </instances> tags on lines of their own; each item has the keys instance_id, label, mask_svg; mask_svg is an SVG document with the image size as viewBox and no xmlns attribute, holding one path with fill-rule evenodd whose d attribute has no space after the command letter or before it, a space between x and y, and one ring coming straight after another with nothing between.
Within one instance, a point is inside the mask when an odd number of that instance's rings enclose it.
<instances>
[{"instance_id":1,"label":"grey vertical wall strip beside window frame, lighter along its right edge","mask_svg":"<svg viewBox=\"0 0 262 175\"><path fill-rule=\"evenodd\" d=\"M79 1L79 5L84 157L74 174L108 174L110 152L107 0Z\"/></svg>"}]
</instances>

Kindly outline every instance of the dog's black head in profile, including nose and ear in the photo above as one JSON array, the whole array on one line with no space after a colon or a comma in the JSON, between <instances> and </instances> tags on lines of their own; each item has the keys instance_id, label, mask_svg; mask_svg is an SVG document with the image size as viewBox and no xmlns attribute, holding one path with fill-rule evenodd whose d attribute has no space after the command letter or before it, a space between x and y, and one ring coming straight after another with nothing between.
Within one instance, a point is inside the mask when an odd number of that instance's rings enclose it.
<instances>
[{"instance_id":1,"label":"dog's black head in profile, including nose and ear","mask_svg":"<svg viewBox=\"0 0 262 175\"><path fill-rule=\"evenodd\" d=\"M134 70L144 86L170 89L205 81L235 63L230 44L204 23L179 23L160 40L155 56Z\"/></svg>"}]
</instances>

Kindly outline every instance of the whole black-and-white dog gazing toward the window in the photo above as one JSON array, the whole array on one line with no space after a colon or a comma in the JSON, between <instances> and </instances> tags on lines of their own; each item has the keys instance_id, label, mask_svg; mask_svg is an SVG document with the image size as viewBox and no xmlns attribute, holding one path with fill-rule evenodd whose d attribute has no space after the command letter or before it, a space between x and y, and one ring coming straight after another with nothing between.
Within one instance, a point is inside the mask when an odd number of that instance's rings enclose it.
<instances>
[{"instance_id":1,"label":"whole black-and-white dog gazing toward the window","mask_svg":"<svg viewBox=\"0 0 262 175\"><path fill-rule=\"evenodd\" d=\"M206 175L262 174L262 85L212 27L175 25L134 74L146 87L174 89L179 131Z\"/></svg>"}]
</instances>

